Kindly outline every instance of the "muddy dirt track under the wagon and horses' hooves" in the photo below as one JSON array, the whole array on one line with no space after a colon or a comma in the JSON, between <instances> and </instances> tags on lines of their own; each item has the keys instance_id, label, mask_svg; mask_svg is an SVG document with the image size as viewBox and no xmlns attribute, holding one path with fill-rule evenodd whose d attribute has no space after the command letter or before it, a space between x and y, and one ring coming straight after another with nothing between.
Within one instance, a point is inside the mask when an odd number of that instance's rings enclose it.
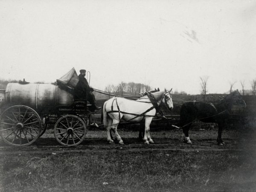
<instances>
[{"instance_id":1,"label":"muddy dirt track under the wagon and horses' hooves","mask_svg":"<svg viewBox=\"0 0 256 192\"><path fill-rule=\"evenodd\" d=\"M93 132L93 133L90 133ZM209 133L209 131L201 131L201 133ZM77 152L87 152L87 151L108 151L108 150L126 150L126 151L243 151L251 150L255 151L256 142L255 139L251 138L250 135L244 135L239 137L239 133L234 134L233 131L227 131L224 133L224 143L225 145L217 145L215 135L211 137L205 136L206 138L198 139L197 134L201 134L198 131L192 131L191 135L194 134L195 139L192 139L193 144L189 145L183 143L181 140L180 132L173 131L160 131L152 132L153 144L144 144L139 138L137 138L137 131L121 131L120 135L128 135L122 137L125 145L120 145L119 143L108 144L105 138L105 131L88 131L89 134L84 141L74 147L66 147L60 145L54 137L39 138L32 145L24 147L14 147L9 146L3 141L0 141L0 154L20 154L20 153L77 153ZM99 137L95 136L99 135ZM172 136L171 136L172 135ZM179 136L178 136L179 135ZM213 134L212 134L213 135ZM91 137L91 138L90 138ZM191 137L193 138L193 137ZM250 144L248 144L248 142Z\"/></svg>"}]
</instances>

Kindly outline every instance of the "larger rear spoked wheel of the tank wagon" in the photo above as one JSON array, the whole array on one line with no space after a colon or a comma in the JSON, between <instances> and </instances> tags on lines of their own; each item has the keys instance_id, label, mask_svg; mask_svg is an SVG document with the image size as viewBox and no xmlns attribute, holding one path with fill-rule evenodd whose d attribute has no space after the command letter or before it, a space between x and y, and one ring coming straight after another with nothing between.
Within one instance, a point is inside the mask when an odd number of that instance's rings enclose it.
<instances>
[{"instance_id":1,"label":"larger rear spoked wheel of the tank wagon","mask_svg":"<svg viewBox=\"0 0 256 192\"><path fill-rule=\"evenodd\" d=\"M40 116L30 107L15 105L0 116L0 136L9 145L30 145L38 139L41 131Z\"/></svg>"}]
</instances>

